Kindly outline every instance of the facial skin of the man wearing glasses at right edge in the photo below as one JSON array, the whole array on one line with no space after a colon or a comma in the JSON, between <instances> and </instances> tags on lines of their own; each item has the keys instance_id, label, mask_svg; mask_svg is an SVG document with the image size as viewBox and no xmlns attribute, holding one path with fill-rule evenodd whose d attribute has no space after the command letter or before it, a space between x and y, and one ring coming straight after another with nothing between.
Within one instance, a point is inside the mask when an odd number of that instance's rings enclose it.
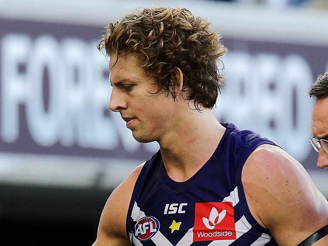
<instances>
[{"instance_id":1,"label":"facial skin of the man wearing glasses at right edge","mask_svg":"<svg viewBox=\"0 0 328 246\"><path fill-rule=\"evenodd\" d=\"M316 100L312 111L312 133L318 139L328 140L328 97ZM328 153L321 146L318 162L318 168L328 167Z\"/></svg>"}]
</instances>

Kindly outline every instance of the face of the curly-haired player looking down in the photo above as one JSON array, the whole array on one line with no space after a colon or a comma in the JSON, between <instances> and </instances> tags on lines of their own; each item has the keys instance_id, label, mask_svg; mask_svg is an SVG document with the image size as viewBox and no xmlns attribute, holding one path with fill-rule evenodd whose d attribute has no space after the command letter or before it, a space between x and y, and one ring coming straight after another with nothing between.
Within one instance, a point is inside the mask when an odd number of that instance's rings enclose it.
<instances>
[{"instance_id":1,"label":"face of the curly-haired player looking down","mask_svg":"<svg viewBox=\"0 0 328 246\"><path fill-rule=\"evenodd\" d=\"M176 103L166 92L156 93L154 78L144 72L135 56L121 56L115 61L116 56L111 56L110 109L120 112L137 141L160 140L174 125Z\"/></svg>"}]
</instances>

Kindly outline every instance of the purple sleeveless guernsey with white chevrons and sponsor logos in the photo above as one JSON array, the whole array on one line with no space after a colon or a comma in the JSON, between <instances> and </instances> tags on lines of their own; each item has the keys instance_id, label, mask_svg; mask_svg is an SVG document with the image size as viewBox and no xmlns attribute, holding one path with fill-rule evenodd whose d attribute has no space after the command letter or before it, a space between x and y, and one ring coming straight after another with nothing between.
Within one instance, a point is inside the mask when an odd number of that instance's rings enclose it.
<instances>
[{"instance_id":1,"label":"purple sleeveless guernsey with white chevrons and sponsor logos","mask_svg":"<svg viewBox=\"0 0 328 246\"><path fill-rule=\"evenodd\" d=\"M277 245L251 215L241 182L256 147L276 144L232 123L222 125L227 129L213 155L187 181L168 176L160 151L144 164L127 215L133 245Z\"/></svg>"}]
</instances>

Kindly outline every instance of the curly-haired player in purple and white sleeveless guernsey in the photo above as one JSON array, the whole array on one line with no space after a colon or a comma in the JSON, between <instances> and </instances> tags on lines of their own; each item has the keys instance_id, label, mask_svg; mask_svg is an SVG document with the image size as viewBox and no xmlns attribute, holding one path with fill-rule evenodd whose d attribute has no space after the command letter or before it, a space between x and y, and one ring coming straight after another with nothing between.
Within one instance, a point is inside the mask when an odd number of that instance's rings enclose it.
<instances>
[{"instance_id":1,"label":"curly-haired player in purple and white sleeveless guernsey","mask_svg":"<svg viewBox=\"0 0 328 246\"><path fill-rule=\"evenodd\" d=\"M211 112L227 49L209 22L139 9L108 24L98 48L110 57L110 109L159 151L112 192L94 246L328 244L328 202L304 168Z\"/></svg>"}]
</instances>

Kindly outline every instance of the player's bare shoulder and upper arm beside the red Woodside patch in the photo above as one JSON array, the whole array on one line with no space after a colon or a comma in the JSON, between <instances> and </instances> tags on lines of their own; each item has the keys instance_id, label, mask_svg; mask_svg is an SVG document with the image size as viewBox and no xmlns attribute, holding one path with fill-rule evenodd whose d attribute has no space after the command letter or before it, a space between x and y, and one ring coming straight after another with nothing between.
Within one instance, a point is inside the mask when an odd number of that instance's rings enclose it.
<instances>
[{"instance_id":1,"label":"player's bare shoulder and upper arm beside the red Woodside patch","mask_svg":"<svg viewBox=\"0 0 328 246\"><path fill-rule=\"evenodd\" d=\"M252 215L279 245L296 245L328 224L328 202L303 166L278 146L257 147L242 183Z\"/></svg>"}]
</instances>

